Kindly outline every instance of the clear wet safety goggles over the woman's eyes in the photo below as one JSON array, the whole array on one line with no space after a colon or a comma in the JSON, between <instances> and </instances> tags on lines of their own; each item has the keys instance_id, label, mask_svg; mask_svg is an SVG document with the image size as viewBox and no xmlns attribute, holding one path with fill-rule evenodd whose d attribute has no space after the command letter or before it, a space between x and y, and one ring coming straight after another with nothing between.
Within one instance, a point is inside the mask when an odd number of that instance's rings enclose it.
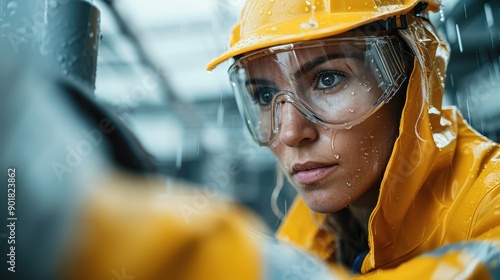
<instances>
[{"instance_id":1,"label":"clear wet safety goggles over the woman's eyes","mask_svg":"<svg viewBox=\"0 0 500 280\"><path fill-rule=\"evenodd\" d=\"M390 100L408 68L401 39L388 35L274 46L239 58L228 72L251 135L268 146L285 104L325 128L350 128Z\"/></svg>"}]
</instances>

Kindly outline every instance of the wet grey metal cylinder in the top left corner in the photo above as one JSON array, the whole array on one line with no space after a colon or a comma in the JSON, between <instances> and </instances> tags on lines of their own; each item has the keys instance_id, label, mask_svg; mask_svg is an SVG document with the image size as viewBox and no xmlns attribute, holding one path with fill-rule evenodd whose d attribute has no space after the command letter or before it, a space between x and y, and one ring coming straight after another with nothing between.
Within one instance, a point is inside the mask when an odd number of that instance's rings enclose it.
<instances>
[{"instance_id":1,"label":"wet grey metal cylinder in the top left corner","mask_svg":"<svg viewBox=\"0 0 500 280\"><path fill-rule=\"evenodd\" d=\"M0 38L33 48L52 71L94 89L100 12L84 0L0 0Z\"/></svg>"}]
</instances>

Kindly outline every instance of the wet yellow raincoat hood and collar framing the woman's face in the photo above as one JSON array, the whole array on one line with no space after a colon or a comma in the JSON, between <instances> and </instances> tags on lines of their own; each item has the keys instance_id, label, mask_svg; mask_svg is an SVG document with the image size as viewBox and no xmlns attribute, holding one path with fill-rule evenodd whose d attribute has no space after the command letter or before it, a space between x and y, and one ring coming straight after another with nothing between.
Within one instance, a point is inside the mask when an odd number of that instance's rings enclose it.
<instances>
[{"instance_id":1,"label":"wet yellow raincoat hood and collar framing the woman's face","mask_svg":"<svg viewBox=\"0 0 500 280\"><path fill-rule=\"evenodd\" d=\"M408 29L401 36L416 51L416 58L399 137L370 216L370 251L362 273L395 267L443 243L470 238L478 201L485 189L500 183L498 173L479 180L491 173L488 169L499 168L498 161L484 166L499 157L498 145L473 131L456 108L442 107L448 45L419 17L408 18ZM479 181L483 185L478 191L468 193L469 204L453 204ZM328 244L334 237L319 229L311 216L297 197L277 235L329 259L335 248ZM460 230L450 233L455 227Z\"/></svg>"}]
</instances>

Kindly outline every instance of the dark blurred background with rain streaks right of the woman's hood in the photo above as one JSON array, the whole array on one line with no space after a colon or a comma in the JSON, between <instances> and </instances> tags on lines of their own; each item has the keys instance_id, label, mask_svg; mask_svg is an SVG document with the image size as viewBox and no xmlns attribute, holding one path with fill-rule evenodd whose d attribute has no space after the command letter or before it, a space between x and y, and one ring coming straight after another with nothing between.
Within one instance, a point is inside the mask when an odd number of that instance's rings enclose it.
<instances>
[{"instance_id":1,"label":"dark blurred background with rain streaks right of the woman's hood","mask_svg":"<svg viewBox=\"0 0 500 280\"><path fill-rule=\"evenodd\" d=\"M500 141L500 2L457 1L438 22L451 47L446 93L480 133Z\"/></svg>"}]
</instances>

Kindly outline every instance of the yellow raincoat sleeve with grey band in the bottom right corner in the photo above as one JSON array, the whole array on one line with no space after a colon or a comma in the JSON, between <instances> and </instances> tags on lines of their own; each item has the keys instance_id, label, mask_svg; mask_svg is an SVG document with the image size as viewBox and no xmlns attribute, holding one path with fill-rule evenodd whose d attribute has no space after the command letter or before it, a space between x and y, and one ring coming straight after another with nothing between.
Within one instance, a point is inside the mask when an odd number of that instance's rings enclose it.
<instances>
[{"instance_id":1,"label":"yellow raincoat sleeve with grey band in the bottom right corner","mask_svg":"<svg viewBox=\"0 0 500 280\"><path fill-rule=\"evenodd\" d=\"M500 279L500 184L486 188L471 219L466 240L356 279Z\"/></svg>"}]
</instances>

